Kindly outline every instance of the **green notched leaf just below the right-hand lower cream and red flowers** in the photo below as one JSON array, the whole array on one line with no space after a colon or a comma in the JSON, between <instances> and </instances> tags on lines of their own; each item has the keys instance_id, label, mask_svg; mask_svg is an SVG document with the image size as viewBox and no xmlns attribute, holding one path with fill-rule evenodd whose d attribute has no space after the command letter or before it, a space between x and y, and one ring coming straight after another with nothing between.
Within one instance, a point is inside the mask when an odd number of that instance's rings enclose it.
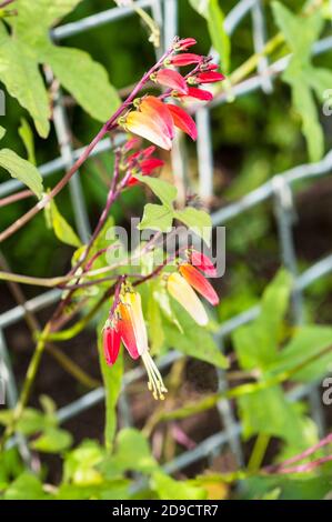
<instances>
[{"instance_id":1,"label":"green notched leaf just below the right-hand lower cream and red flowers","mask_svg":"<svg viewBox=\"0 0 332 522\"><path fill-rule=\"evenodd\" d=\"M183 334L179 334L178 328L173 324L164 322L163 329L168 348L173 348L218 368L228 368L227 358L221 353L207 329L199 327L174 300L172 300L172 308Z\"/></svg>"}]
</instances>

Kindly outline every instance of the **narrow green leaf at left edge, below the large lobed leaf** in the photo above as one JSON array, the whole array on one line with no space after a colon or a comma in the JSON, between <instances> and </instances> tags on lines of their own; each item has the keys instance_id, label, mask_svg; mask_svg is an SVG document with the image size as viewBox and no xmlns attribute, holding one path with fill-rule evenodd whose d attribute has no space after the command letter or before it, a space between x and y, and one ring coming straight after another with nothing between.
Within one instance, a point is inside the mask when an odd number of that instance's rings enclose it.
<instances>
[{"instance_id":1,"label":"narrow green leaf at left edge, below the large lobed leaf","mask_svg":"<svg viewBox=\"0 0 332 522\"><path fill-rule=\"evenodd\" d=\"M40 199L42 197L42 178L32 163L20 158L9 149L0 150L0 167L12 178L20 180Z\"/></svg>"}]
</instances>

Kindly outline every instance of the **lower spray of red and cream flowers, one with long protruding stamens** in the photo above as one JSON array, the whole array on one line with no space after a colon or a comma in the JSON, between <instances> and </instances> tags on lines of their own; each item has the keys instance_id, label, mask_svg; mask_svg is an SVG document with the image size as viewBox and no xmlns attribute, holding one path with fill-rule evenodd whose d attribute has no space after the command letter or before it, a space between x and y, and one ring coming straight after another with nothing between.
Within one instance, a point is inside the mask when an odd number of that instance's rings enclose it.
<instances>
[{"instance_id":1,"label":"lower spray of red and cream flowers, one with long protruding stamens","mask_svg":"<svg viewBox=\"0 0 332 522\"><path fill-rule=\"evenodd\" d=\"M203 274L215 275L213 263L203 253L189 250L185 261L179 263L178 271L162 275L167 278L167 288L172 298L200 325L205 325L209 319L194 290L211 304L215 305L219 303L219 298L213 287ZM163 400L167 388L163 384L160 371L149 353L141 297L128 281L121 283L120 291L114 298L110 317L103 328L103 351L109 365L115 363L121 342L132 359L142 358L148 373L148 388L154 399Z\"/></svg>"}]
</instances>

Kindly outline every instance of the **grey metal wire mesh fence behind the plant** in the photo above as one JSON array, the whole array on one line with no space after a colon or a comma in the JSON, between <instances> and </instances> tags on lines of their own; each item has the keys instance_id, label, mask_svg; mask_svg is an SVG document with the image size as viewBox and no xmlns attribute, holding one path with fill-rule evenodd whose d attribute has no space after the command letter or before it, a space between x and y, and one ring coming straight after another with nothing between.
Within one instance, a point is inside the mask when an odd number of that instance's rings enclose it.
<instances>
[{"instance_id":1,"label":"grey metal wire mesh fence behind the plant","mask_svg":"<svg viewBox=\"0 0 332 522\"><path fill-rule=\"evenodd\" d=\"M137 7L147 9L157 23L161 28L162 33L162 48L160 52L165 49L178 33L178 8L180 0L138 0ZM252 21L252 36L253 48L255 52L262 51L266 41L266 28L264 8L261 0L241 0L235 3L235 7L230 11L225 18L225 30L229 34L247 17L251 17ZM62 39L68 39L71 36L89 32L90 29L111 24L114 21L125 19L133 16L134 11L131 7L115 7L105 11L92 14L82 20L62 24L53 29L51 37L59 44ZM323 53L332 49L332 37L324 38L318 41L312 52L313 54ZM211 53L217 58L213 49ZM237 98L243 97L252 91L261 90L263 93L269 94L273 90L273 79L280 74L286 67L289 57L282 58L274 63L269 63L268 58L262 57L258 63L256 73L250 79L244 80L233 88L233 96ZM51 79L49 79L51 80ZM198 169L199 169L199 194L203 198L213 195L213 153L211 143L211 122L210 111L213 108L227 102L227 94L222 93L217 97L213 102L208 107L197 110L195 120L198 126ZM59 142L60 157L56 158L48 163L39 167L42 177L48 177L56 172L67 170L72 165L76 159L82 152L82 149L74 149L71 142L71 132L67 117L67 109L63 104L61 92L59 93L53 112L53 122ZM121 135L117 140L121 142ZM115 143L118 144L118 143ZM109 150L111 143L109 140L102 140L93 150L92 155L101 154ZM180 148L174 147L172 152L172 162L177 165L177 172L183 175L185 180L185 164L183 164L182 155L179 152ZM308 163L296 165L285 172L275 173L275 175L266 181L264 184L247 193L241 200L233 202L227 207L221 208L212 214L213 225L227 224L232 219L245 214L250 209L261 204L266 200L272 200L274 209L274 219L279 232L280 245L280 262L285 265L295 279L295 290L292 300L293 318L295 323L303 322L303 302L304 290L310 287L314 281L326 277L332 272L332 254L324 259L318 260L314 264L303 272L299 272L296 251L293 242L293 192L296 185L303 180L318 180L326 175L332 170L332 151L330 151L321 161L316 163ZM17 180L6 181L0 184L0 198L6 197L16 190L20 189L21 184ZM71 179L70 182L71 202L74 210L76 224L79 234L83 241L87 241L90 233L90 225L88 212L82 194L79 172ZM27 311L37 312L46 309L54 303L60 298L60 290L50 290L40 295L17 305L2 314L0 314L0 360L1 360L1 375L0 382L0 403L1 396L6 391L7 404L13 406L17 401L17 385L10 359L8 357L8 349L6 343L6 329L12 324L18 323L24 319ZM259 307L253 307L230 320L223 322L217 332L217 339L222 348L223 340L227 339L233 330L242 324L253 320L259 314ZM182 355L178 352L170 352L161 358L158 362L161 370L168 368L175 360ZM123 380L123 390L133 381L142 377L142 371L137 368L125 374ZM3 387L6 382L6 390ZM219 388L227 387L227 382L222 372L219 374ZM103 400L104 390L98 388L74 402L61 408L58 411L60 422L64 422L76 415L79 415L87 409L93 408L97 403ZM320 396L315 383L310 385L299 385L289 393L291 401L296 401L300 398L308 398L311 405L311 414L318 423L321 434L324 431L323 412L321 408ZM229 444L232 452L237 456L238 463L243 462L242 446L241 446L241 425L235 421L232 412L231 404L227 400L220 401L218 405L222 425L224 430L215 433L198 444L193 450L187 451L178 456L172 462L169 462L164 468L168 472L174 472L188 464L199 461L202 458L215 455L220 452L221 448ZM125 404L125 394L120 400L120 415L123 415L124 423L130 423L128 416L128 408ZM9 441L9 445L19 444L21 452L24 451L24 441L18 436Z\"/></svg>"}]
</instances>

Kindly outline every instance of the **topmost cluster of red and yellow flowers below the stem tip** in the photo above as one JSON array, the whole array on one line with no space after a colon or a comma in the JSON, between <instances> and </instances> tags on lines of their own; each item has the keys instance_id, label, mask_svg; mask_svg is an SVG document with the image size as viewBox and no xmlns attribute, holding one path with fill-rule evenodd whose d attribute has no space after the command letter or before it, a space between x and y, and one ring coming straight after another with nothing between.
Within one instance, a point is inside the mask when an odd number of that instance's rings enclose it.
<instances>
[{"instance_id":1,"label":"topmost cluster of red and yellow flowers below the stem tip","mask_svg":"<svg viewBox=\"0 0 332 522\"><path fill-rule=\"evenodd\" d=\"M181 107L172 103L172 100L210 101L212 93L201 89L201 86L221 81L224 76L217 71L218 66L211 63L210 58L191 52L181 53L194 43L193 38L174 43L173 51L164 61L163 67L150 77L152 81L167 88L167 92L160 97L145 96L134 100L135 110L129 111L119 119L119 124L127 131L145 138L165 150L172 148L175 127L193 140L197 139L193 119ZM184 77L173 69L191 64L195 66L194 69Z\"/></svg>"}]
</instances>

